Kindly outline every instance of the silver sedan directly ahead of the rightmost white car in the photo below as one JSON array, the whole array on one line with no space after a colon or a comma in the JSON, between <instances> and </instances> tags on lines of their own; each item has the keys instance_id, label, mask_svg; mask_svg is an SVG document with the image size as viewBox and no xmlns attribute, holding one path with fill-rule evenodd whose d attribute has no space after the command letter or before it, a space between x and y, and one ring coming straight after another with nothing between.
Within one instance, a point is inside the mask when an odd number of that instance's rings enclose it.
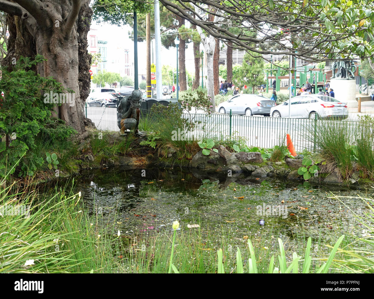
<instances>
[{"instance_id":1,"label":"silver sedan directly ahead of the rightmost white car","mask_svg":"<svg viewBox=\"0 0 374 299\"><path fill-rule=\"evenodd\" d=\"M228 101L218 105L220 113L241 115L264 115L270 116L270 109L275 105L274 101L259 95L236 95Z\"/></svg>"}]
</instances>

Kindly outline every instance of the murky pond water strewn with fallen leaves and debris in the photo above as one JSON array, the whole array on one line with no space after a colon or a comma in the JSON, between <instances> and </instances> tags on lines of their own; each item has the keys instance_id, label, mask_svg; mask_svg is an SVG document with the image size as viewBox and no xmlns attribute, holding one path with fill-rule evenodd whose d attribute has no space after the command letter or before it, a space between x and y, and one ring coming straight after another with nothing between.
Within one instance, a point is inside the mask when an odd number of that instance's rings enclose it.
<instances>
[{"instance_id":1,"label":"murky pond water strewn with fallen leaves and debris","mask_svg":"<svg viewBox=\"0 0 374 299\"><path fill-rule=\"evenodd\" d=\"M82 191L91 215L102 213L123 235L171 232L176 219L183 229L199 224L201 231L209 230L217 238L229 234L238 243L244 236L266 237L274 241L271 243L281 237L292 244L292 240L309 236L331 243L342 234L365 235L353 213L363 215L366 203L342 199L345 206L329 197L370 196L367 191L305 187L299 182L262 181L243 175L223 174L204 184L203 179L209 176L180 169L147 169L145 173L106 169L84 173L76 188ZM264 226L259 225L260 219Z\"/></svg>"}]
</instances>

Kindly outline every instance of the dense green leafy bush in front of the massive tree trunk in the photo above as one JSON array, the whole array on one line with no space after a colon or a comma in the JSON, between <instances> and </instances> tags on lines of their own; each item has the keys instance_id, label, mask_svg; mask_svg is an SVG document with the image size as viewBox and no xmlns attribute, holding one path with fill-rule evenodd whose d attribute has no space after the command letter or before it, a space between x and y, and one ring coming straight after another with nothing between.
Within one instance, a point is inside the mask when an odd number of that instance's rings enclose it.
<instances>
[{"instance_id":1,"label":"dense green leafy bush in front of the massive tree trunk","mask_svg":"<svg viewBox=\"0 0 374 299\"><path fill-rule=\"evenodd\" d=\"M44 102L45 92L65 91L52 77L44 78L31 70L43 60L40 55L34 61L21 57L12 71L2 69L0 90L4 92L4 97L0 98L0 177L4 177L6 172L14 173L17 166L21 170L19 176L33 175L44 163L45 153L39 152L35 143L38 135L60 141L76 132L61 120L52 118L50 111L55 104ZM9 144L6 144L6 136L13 139Z\"/></svg>"}]
</instances>

